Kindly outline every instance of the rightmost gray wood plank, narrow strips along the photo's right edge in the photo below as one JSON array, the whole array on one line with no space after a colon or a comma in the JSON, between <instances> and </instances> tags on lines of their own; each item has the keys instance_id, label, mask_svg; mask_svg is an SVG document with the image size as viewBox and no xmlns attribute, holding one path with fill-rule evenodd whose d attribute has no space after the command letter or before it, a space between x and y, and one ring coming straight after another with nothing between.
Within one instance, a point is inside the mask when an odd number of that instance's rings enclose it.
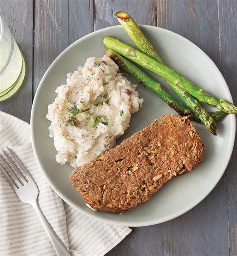
<instances>
[{"instance_id":1,"label":"rightmost gray wood plank, narrow strips along the photo's right edge","mask_svg":"<svg viewBox=\"0 0 237 256\"><path fill-rule=\"evenodd\" d=\"M229 86L233 101L237 103L237 2L219 1L219 50L220 64L223 76ZM233 154L226 170L227 177L227 199L228 199L228 222L229 222L229 245L230 255L237 254L237 148Z\"/></svg>"}]
</instances>

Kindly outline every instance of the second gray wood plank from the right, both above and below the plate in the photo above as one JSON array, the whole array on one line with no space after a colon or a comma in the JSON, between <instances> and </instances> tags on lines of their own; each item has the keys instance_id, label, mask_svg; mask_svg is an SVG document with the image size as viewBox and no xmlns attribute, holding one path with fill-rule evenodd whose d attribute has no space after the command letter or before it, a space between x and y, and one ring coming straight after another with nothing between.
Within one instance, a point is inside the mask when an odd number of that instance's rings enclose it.
<instances>
[{"instance_id":1,"label":"second gray wood plank from the right, both above and below the plate","mask_svg":"<svg viewBox=\"0 0 237 256\"><path fill-rule=\"evenodd\" d=\"M158 26L177 32L220 66L217 1L157 1ZM165 255L228 255L226 181L188 213L163 224Z\"/></svg>"}]
</instances>

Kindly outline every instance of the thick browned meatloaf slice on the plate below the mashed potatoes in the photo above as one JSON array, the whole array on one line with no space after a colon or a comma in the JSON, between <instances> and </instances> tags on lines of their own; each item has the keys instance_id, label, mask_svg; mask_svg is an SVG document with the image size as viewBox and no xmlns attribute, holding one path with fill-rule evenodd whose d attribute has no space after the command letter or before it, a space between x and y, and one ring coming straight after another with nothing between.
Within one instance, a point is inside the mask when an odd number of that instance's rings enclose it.
<instances>
[{"instance_id":1,"label":"thick browned meatloaf slice on the plate below the mashed potatoes","mask_svg":"<svg viewBox=\"0 0 237 256\"><path fill-rule=\"evenodd\" d=\"M194 169L203 151L187 117L166 115L76 168L70 180L93 209L122 213L149 200L173 176Z\"/></svg>"}]
</instances>

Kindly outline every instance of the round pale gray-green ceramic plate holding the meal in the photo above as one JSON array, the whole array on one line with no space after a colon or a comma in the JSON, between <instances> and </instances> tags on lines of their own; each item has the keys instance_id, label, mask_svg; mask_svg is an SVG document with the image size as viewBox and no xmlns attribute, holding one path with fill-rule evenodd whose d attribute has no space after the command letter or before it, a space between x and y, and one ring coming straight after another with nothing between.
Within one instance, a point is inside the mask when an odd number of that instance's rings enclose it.
<instances>
[{"instance_id":1,"label":"round pale gray-green ceramic plate holding the meal","mask_svg":"<svg viewBox=\"0 0 237 256\"><path fill-rule=\"evenodd\" d=\"M213 61L196 45L171 31L141 26L150 41L156 46L167 64L200 87L217 97L232 101L228 86ZM51 64L43 76L32 107L31 135L35 156L45 177L56 193L80 212L108 223L127 226L147 226L173 219L201 202L215 187L229 162L234 138L235 116L228 115L219 121L218 136L214 137L203 125L196 124L204 145L204 159L191 173L175 177L152 198L132 211L122 215L94 212L90 210L69 181L72 167L56 163L53 140L48 137L49 121L46 120L48 104L56 97L55 89L65 83L66 74L83 65L88 57L103 56L102 39L112 36L131 45L129 36L121 26L114 26L93 32L65 49ZM164 82L149 72L156 80ZM166 88L168 86L166 85ZM140 97L144 98L142 109L132 115L129 129L118 140L132 135L164 114L175 113L148 89L138 86ZM208 108L211 109L211 108Z\"/></svg>"}]
</instances>

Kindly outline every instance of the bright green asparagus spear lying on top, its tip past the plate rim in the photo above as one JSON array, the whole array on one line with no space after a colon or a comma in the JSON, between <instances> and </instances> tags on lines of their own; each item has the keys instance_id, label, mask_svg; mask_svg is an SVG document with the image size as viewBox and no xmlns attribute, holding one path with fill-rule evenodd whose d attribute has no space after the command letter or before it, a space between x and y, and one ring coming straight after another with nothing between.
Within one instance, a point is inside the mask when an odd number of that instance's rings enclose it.
<instances>
[{"instance_id":1,"label":"bright green asparagus spear lying on top, its tip past the plate rim","mask_svg":"<svg viewBox=\"0 0 237 256\"><path fill-rule=\"evenodd\" d=\"M224 99L217 99L208 95L203 89L198 88L196 85L185 79L176 71L136 50L135 48L119 41L118 39L105 37L103 39L103 44L105 47L117 51L124 57L160 75L165 80L170 81L174 85L185 89L186 92L190 93L199 101L215 106L217 109L223 112L237 114L237 107L234 106L231 102L228 102Z\"/></svg>"}]
</instances>

